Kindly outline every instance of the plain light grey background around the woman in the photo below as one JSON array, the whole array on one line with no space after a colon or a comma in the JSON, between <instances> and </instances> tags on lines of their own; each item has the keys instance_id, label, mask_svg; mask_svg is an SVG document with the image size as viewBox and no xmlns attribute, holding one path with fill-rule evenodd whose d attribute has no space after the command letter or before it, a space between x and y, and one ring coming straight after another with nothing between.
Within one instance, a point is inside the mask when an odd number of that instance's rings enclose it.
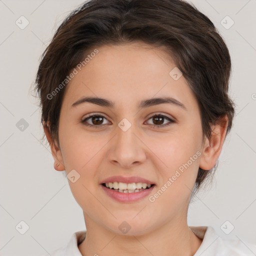
<instances>
[{"instance_id":1,"label":"plain light grey background around the woman","mask_svg":"<svg viewBox=\"0 0 256 256\"><path fill-rule=\"evenodd\" d=\"M39 141L43 132L40 110L29 90L42 51L63 18L81 2L0 0L2 256L44 254L65 245L73 232L85 229L82 210L66 179L54 170L49 147ZM239 238L247 246L247 242L256 243L256 2L190 2L213 21L227 43L232 58L230 95L237 108L215 179L189 206L188 224L211 225L219 236ZM24 29L15 23L21 15L29 21ZM234 21L229 29L220 23L226 15ZM224 22L230 24L230 20ZM28 123L23 131L16 126L22 118ZM21 220L29 226L24 234L15 228ZM225 230L234 226L229 234L223 231L226 220Z\"/></svg>"}]
</instances>

